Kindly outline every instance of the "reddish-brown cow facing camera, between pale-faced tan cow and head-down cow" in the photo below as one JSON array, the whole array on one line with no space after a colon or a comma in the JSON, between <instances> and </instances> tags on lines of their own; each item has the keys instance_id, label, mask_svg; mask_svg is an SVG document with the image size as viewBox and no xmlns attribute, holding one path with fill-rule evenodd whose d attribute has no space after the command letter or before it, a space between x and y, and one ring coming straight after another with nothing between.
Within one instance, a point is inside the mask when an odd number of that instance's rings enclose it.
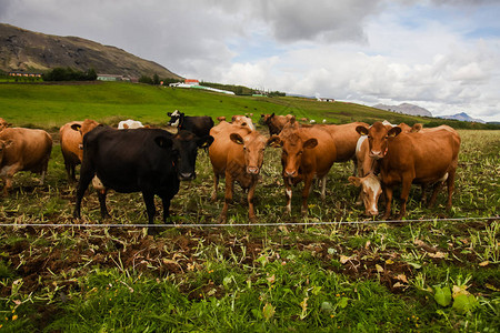
<instances>
[{"instance_id":1,"label":"reddish-brown cow facing camera, between pale-faced tan cow and head-down cow","mask_svg":"<svg viewBox=\"0 0 500 333\"><path fill-rule=\"evenodd\" d=\"M328 131L318 127L299 128L293 118L279 135L271 137L271 145L282 149L287 212L291 212L291 186L303 181L301 212L307 214L308 198L314 178L321 182L321 199L324 200L327 174L337 159L333 139Z\"/></svg>"}]
</instances>

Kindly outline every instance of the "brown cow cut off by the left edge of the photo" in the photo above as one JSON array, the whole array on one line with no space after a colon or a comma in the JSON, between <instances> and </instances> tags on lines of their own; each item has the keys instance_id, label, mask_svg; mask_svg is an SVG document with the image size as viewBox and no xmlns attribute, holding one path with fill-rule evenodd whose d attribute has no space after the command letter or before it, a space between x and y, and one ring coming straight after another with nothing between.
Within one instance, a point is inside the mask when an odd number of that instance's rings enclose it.
<instances>
[{"instance_id":1,"label":"brown cow cut off by the left edge of the photo","mask_svg":"<svg viewBox=\"0 0 500 333\"><path fill-rule=\"evenodd\" d=\"M43 130L7 128L0 132L0 176L6 181L3 194L12 188L12 176L18 171L41 173L43 184L52 138Z\"/></svg>"}]
</instances>

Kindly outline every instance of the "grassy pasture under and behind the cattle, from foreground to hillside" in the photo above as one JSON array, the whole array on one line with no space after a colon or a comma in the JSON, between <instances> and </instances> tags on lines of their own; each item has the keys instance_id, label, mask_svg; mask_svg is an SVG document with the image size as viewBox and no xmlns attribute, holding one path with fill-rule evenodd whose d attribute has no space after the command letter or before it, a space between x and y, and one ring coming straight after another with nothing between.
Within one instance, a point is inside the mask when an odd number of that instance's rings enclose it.
<instances>
[{"instance_id":1,"label":"grassy pasture under and behind the cattle, from foreground to hillside","mask_svg":"<svg viewBox=\"0 0 500 333\"><path fill-rule=\"evenodd\" d=\"M17 125L46 128L54 137L54 128L86 117L109 122L130 117L161 125L164 113L174 109L192 114L209 110L213 115L252 112L254 120L271 111L293 110L317 119L351 112L334 109L344 103L271 101L142 85L130 85L129 92L121 84L63 85L57 87L59 95L51 85L12 88L10 93L6 87L10 85L0 87L6 110L0 117ZM368 108L356 108L367 112L362 118L379 117ZM500 131L460 134L452 211L444 211L444 191L434 209L421 206L420 189L414 186L408 219L499 215ZM347 182L352 165L332 168L326 201L314 189L309 215L302 219L300 185L293 193L292 214L283 214L279 154L279 150L266 151L257 190L258 218L266 223L311 225L176 228L154 239L142 229L0 229L1 330L499 331L498 220L313 225L363 221L363 210L354 204L358 189ZM223 184L219 200L209 200L212 174L204 152L199 154L197 172L198 178L183 183L172 201L178 224L216 223L222 209ZM244 199L237 185L228 223L247 222ZM73 201L74 185L66 181L56 144L46 185L38 185L36 175L19 173L12 193L0 199L0 222L101 223L96 193L90 191L83 200L82 221L71 219ZM108 205L112 215L108 223L147 221L139 193L111 192ZM161 212L159 201L157 208Z\"/></svg>"}]
</instances>

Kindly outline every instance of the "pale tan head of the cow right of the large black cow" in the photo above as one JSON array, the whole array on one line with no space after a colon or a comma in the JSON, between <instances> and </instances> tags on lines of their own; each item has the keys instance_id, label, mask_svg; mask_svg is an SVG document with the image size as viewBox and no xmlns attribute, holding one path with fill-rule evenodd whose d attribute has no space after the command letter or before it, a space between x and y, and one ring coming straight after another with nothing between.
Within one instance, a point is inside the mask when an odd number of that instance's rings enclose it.
<instances>
[{"instance_id":1,"label":"pale tan head of the cow right of the large black cow","mask_svg":"<svg viewBox=\"0 0 500 333\"><path fill-rule=\"evenodd\" d=\"M263 163L263 153L266 148L271 143L271 139L266 140L258 132L250 132L244 138L238 133L229 135L232 142L243 147L244 165L247 173L257 175Z\"/></svg>"}]
</instances>

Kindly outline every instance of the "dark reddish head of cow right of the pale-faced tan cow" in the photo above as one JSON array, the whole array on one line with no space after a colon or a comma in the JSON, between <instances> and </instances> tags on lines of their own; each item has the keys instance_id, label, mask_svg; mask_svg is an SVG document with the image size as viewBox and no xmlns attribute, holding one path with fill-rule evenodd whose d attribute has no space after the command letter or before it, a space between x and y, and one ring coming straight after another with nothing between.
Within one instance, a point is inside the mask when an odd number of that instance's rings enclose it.
<instances>
[{"instance_id":1,"label":"dark reddish head of cow right of the pale-faced tan cow","mask_svg":"<svg viewBox=\"0 0 500 333\"><path fill-rule=\"evenodd\" d=\"M283 176L290 179L299 176L299 168L302 163L302 154L304 150L313 149L318 145L317 139L310 138L308 140L303 140L297 133L290 133L283 137L273 135L270 140L270 145L281 148Z\"/></svg>"}]
</instances>

